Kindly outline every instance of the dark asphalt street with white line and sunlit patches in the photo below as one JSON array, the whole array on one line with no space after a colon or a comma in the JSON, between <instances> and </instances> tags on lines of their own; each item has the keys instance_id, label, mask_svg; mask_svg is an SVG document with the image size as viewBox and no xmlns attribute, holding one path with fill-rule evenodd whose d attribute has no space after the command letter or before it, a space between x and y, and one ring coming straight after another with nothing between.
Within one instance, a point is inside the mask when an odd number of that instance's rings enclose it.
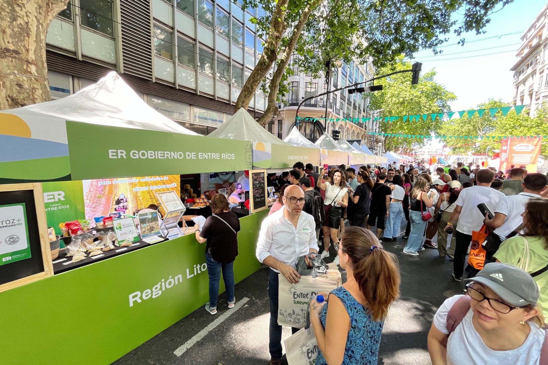
<instances>
[{"instance_id":1,"label":"dark asphalt street with white line and sunlit patches","mask_svg":"<svg viewBox=\"0 0 548 365\"><path fill-rule=\"evenodd\" d=\"M398 257L402 282L401 297L391 306L385 321L379 364L430 364L426 335L432 317L444 299L462 292L464 287L462 283L452 280L453 264L448 258L439 258L437 250L431 248L420 252L420 256L407 256L402 253L406 241L399 239L398 242L384 244L386 250ZM334 255L332 251L326 261L333 260ZM221 294L217 315L212 316L205 309L198 309L113 364L267 364L270 360L267 281L268 271L260 269L236 285L237 300L248 299L236 310L227 309L226 296ZM225 313L226 319L222 320L220 317ZM199 339L196 340L198 334ZM290 334L289 328L283 329L283 339ZM180 356L175 355L174 351L181 346L185 346L185 351Z\"/></svg>"}]
</instances>

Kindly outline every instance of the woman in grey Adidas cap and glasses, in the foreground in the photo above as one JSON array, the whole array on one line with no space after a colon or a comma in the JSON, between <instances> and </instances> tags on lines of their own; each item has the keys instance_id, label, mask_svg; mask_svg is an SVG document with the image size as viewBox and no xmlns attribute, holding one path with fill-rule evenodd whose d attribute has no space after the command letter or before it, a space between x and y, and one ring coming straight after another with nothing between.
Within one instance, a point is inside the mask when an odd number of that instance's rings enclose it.
<instances>
[{"instance_id":1,"label":"woman in grey Adidas cap and glasses, in the foreground","mask_svg":"<svg viewBox=\"0 0 548 365\"><path fill-rule=\"evenodd\" d=\"M468 296L446 299L434 316L428 334L432 365L545 365L544 317L533 278L494 262L464 281Z\"/></svg>"}]
</instances>

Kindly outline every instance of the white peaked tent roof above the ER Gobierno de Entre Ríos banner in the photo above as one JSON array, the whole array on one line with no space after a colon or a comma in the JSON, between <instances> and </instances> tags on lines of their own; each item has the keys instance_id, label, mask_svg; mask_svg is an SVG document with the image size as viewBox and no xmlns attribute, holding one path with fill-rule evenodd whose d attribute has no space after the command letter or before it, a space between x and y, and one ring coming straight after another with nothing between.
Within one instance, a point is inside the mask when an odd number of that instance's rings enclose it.
<instances>
[{"instance_id":1,"label":"white peaked tent roof above the ER Gobierno de Entre R\u00edos banner","mask_svg":"<svg viewBox=\"0 0 548 365\"><path fill-rule=\"evenodd\" d=\"M51 128L51 122L55 119L61 119L63 123L65 120L75 120L90 124L198 136L197 133L180 126L147 105L114 71L76 94L3 112L18 115L23 120L40 120L44 124L47 123L49 127L36 126L36 134L33 133L33 138L42 137L44 140L52 139L47 136L50 134L47 129ZM66 137L64 139L66 140Z\"/></svg>"}]
</instances>

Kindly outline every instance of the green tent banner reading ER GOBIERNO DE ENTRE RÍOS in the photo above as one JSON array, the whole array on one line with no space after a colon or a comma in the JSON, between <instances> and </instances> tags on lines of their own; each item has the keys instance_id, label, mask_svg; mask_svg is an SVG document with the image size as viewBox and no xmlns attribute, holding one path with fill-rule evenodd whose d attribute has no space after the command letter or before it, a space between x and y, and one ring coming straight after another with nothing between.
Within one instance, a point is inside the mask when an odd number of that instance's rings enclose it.
<instances>
[{"instance_id":1,"label":"green tent banner reading ER GOBIERNO DE ENTRE R\u00cdOS","mask_svg":"<svg viewBox=\"0 0 548 365\"><path fill-rule=\"evenodd\" d=\"M71 179L250 170L251 142L67 121Z\"/></svg>"}]
</instances>

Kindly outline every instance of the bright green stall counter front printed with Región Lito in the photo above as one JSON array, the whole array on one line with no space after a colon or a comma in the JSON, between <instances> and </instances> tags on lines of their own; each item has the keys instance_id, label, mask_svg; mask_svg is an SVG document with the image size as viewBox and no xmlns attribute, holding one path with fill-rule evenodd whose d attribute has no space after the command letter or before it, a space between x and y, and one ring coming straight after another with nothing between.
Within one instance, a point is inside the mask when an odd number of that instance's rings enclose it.
<instances>
[{"instance_id":1,"label":"bright green stall counter front printed with Regi\u00f3n Lito","mask_svg":"<svg viewBox=\"0 0 548 365\"><path fill-rule=\"evenodd\" d=\"M267 212L240 219L236 282L260 267L255 247ZM208 302L205 251L194 234L186 234L0 293L0 362L116 361ZM67 351L59 352L59 341ZM98 345L83 351L83 344Z\"/></svg>"}]
</instances>

